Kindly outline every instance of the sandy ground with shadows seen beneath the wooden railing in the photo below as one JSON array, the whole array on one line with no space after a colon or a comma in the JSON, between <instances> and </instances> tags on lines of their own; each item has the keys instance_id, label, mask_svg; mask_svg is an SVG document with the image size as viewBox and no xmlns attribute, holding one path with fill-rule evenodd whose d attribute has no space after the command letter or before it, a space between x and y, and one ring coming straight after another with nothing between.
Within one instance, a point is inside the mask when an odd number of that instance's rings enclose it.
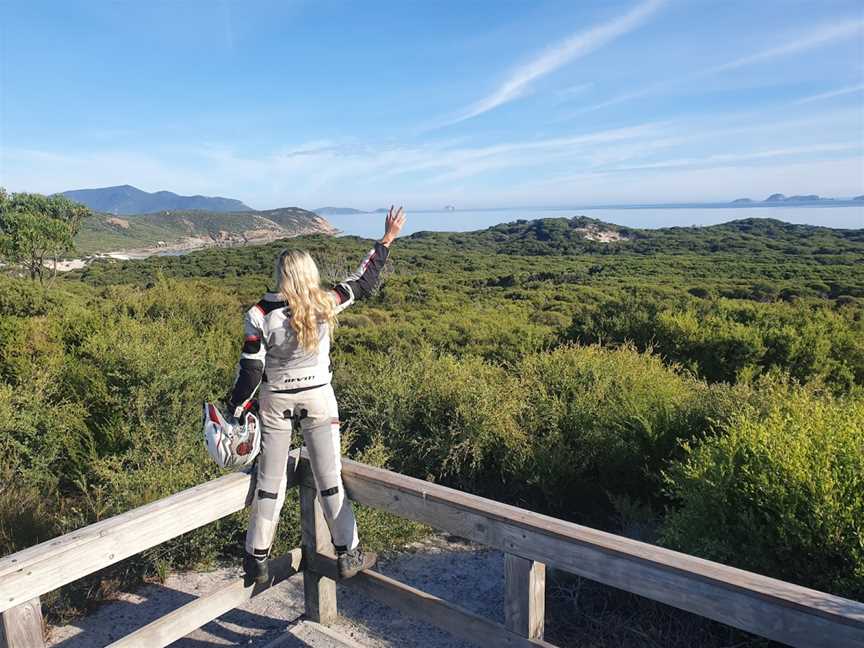
<instances>
[{"instance_id":1,"label":"sandy ground with shadows seen beneath the wooden railing","mask_svg":"<svg viewBox=\"0 0 864 648\"><path fill-rule=\"evenodd\" d=\"M504 621L504 556L500 552L447 536L434 536L406 550L383 556L378 571L498 622ZM122 594L95 613L73 624L51 628L48 646L95 648L129 634L202 594L240 575L238 568L172 574L162 585L148 585ZM338 586L338 632L362 646L469 648L434 626L402 616L365 598L348 586ZM247 646L279 648L328 645L307 637L302 624L303 578L297 575L208 623L175 648ZM287 630L294 635L286 636ZM282 641L280 641L282 639ZM284 643L283 643L284 641Z\"/></svg>"}]
</instances>

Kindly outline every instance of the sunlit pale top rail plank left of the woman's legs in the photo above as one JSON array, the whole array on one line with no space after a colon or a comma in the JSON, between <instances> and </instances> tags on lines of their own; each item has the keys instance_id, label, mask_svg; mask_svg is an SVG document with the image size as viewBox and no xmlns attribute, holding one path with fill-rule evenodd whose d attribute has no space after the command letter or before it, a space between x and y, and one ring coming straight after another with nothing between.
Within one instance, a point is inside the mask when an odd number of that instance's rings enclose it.
<instances>
[{"instance_id":1,"label":"sunlit pale top rail plank left of the woman's legs","mask_svg":"<svg viewBox=\"0 0 864 648\"><path fill-rule=\"evenodd\" d=\"M231 473L5 556L0 612L243 509L252 482L245 472Z\"/></svg>"}]
</instances>

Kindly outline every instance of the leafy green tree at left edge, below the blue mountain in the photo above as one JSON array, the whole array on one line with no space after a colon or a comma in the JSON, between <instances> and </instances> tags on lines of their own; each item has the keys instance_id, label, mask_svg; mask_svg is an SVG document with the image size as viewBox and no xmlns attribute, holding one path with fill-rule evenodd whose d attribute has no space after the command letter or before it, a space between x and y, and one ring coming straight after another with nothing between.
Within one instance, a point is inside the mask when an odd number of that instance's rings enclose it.
<instances>
[{"instance_id":1,"label":"leafy green tree at left edge, below the blue mountain","mask_svg":"<svg viewBox=\"0 0 864 648\"><path fill-rule=\"evenodd\" d=\"M81 221L91 215L88 207L65 196L35 193L7 194L0 188L0 258L23 267L32 280L44 281L45 262L57 260L75 248Z\"/></svg>"}]
</instances>

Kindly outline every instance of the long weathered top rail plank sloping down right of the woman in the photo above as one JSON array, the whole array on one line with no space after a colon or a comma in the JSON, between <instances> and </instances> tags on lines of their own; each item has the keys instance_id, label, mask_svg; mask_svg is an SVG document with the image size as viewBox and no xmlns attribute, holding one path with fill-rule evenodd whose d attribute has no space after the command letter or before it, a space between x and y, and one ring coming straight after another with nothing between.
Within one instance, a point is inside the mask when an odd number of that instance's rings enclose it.
<instances>
[{"instance_id":1,"label":"long weathered top rail plank sloping down right of the woman","mask_svg":"<svg viewBox=\"0 0 864 648\"><path fill-rule=\"evenodd\" d=\"M360 504L763 637L864 647L864 604L856 601L350 460L342 477Z\"/></svg>"}]
</instances>

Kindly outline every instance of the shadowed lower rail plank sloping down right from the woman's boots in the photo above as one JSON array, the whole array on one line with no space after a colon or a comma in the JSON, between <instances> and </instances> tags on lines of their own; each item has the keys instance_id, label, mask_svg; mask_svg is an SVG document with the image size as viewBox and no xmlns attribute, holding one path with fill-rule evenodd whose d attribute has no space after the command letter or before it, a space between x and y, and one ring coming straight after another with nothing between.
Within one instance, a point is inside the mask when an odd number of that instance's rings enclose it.
<instances>
[{"instance_id":1,"label":"shadowed lower rail plank sloping down right from the woman's boots","mask_svg":"<svg viewBox=\"0 0 864 648\"><path fill-rule=\"evenodd\" d=\"M310 568L336 576L336 563L332 558L317 555L307 560ZM304 572L305 573L305 572ZM546 646L554 648L541 639L529 639L511 632L500 623L490 621L454 603L418 590L405 583L367 569L352 578L339 581L357 589L367 596L418 618L450 633L454 637L471 641L480 646L513 646L527 648Z\"/></svg>"}]
</instances>

